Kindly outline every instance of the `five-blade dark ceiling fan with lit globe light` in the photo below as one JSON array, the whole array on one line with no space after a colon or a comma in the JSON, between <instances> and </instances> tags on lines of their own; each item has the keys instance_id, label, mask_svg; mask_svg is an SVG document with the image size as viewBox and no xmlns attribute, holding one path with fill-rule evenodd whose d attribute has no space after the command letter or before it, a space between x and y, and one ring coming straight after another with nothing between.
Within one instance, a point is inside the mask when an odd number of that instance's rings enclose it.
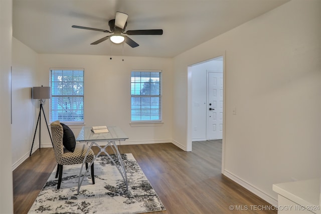
<instances>
[{"instance_id":1,"label":"five-blade dark ceiling fan with lit globe light","mask_svg":"<svg viewBox=\"0 0 321 214\"><path fill-rule=\"evenodd\" d=\"M155 29L155 30L134 30L134 31L126 31L126 26L127 26L127 18L128 15L121 13L121 12L116 12L116 17L113 20L110 20L108 22L110 30L103 30L103 29L97 29L97 28L87 28L87 27L82 27L82 26L76 26L73 25L71 26L72 28L80 28L80 29L85 29L85 30L92 30L92 31L100 31L100 32L105 32L105 33L112 33L112 35L108 35L106 37L103 37L96 42L91 43L90 45L97 45L105 40L110 39L111 42L119 44L122 42L127 43L130 47L135 48L139 46L135 41L130 39L128 36L123 35L163 35L163 30L162 29Z\"/></svg>"}]
</instances>

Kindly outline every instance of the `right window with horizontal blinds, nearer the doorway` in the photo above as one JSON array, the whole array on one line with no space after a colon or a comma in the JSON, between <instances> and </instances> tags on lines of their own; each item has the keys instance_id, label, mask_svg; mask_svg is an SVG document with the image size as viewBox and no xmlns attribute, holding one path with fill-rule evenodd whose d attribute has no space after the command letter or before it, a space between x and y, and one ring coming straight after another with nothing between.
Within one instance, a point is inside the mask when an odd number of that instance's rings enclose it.
<instances>
[{"instance_id":1,"label":"right window with horizontal blinds, nearer the doorway","mask_svg":"<svg viewBox=\"0 0 321 214\"><path fill-rule=\"evenodd\" d=\"M132 71L130 79L131 122L160 122L162 72Z\"/></svg>"}]
</instances>

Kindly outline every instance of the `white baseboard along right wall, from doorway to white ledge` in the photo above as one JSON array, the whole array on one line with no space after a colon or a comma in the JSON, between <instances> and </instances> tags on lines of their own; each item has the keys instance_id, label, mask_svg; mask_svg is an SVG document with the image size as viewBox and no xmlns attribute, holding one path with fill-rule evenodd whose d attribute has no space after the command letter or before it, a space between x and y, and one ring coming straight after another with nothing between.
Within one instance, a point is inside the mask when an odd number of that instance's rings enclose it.
<instances>
[{"instance_id":1,"label":"white baseboard along right wall, from doorway to white ledge","mask_svg":"<svg viewBox=\"0 0 321 214\"><path fill-rule=\"evenodd\" d=\"M243 186L247 190L249 190L252 193L256 194L257 196L259 196L260 198L262 198L266 202L270 203L271 205L277 206L277 198L274 198L271 195L266 194L261 189L251 185L250 183L246 182L245 180L240 179L239 177L237 177L236 175L234 175L233 173L231 173L231 172L229 172L227 170L224 170L223 174L226 177L228 177L231 180L233 180L234 182L240 184L241 186ZM271 186L271 188L272 188L272 186Z\"/></svg>"}]
</instances>

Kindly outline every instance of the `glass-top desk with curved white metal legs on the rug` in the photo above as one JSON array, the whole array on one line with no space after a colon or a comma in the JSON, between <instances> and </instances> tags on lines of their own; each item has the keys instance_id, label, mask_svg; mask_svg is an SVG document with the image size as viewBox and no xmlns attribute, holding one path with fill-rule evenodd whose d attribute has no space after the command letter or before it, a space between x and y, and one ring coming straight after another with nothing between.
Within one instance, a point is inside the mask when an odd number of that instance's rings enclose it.
<instances>
[{"instance_id":1,"label":"glass-top desk with curved white metal legs on the rug","mask_svg":"<svg viewBox=\"0 0 321 214\"><path fill-rule=\"evenodd\" d=\"M95 134L91 129L92 129L92 127L83 126L80 130L80 133L79 133L76 141L79 141L82 143L87 143L87 144L90 143L89 148L91 148L93 145L96 145L100 149L100 151L94 156L94 159L91 161L90 165L88 166L88 169L82 175L82 169L83 169L86 157L89 152L89 149L87 150L85 157L84 157L84 161L82 162L79 177L78 177L78 192L79 192L80 186L82 184L82 181L84 180L86 173L90 169L90 166L94 163L94 160L100 155L101 152L104 152L108 156L108 158L113 162L113 164L117 167L119 173L121 174L121 176L124 179L124 182L126 184L126 190L128 190L126 169L125 169L124 163L122 161L121 155L119 153L119 150L117 148L117 144L115 143L115 141L124 141L124 140L128 139L128 137L117 126L107 126L107 129L109 132L106 132L106 133ZM103 146L101 146L98 144L98 142L105 142L105 144ZM106 151L107 146L111 146L111 148L112 148L112 150L118 160L118 164L116 164L115 160L107 153L107 151Z\"/></svg>"}]
</instances>

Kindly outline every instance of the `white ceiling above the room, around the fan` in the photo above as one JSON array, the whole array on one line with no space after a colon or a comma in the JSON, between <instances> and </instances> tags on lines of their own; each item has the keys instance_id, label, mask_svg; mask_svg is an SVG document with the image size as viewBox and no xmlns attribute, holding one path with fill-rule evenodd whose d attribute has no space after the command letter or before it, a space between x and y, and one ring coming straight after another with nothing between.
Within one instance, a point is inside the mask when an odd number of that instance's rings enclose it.
<instances>
[{"instance_id":1,"label":"white ceiling above the room, around the fan","mask_svg":"<svg viewBox=\"0 0 321 214\"><path fill-rule=\"evenodd\" d=\"M1 1L1 0L0 0ZM13 0L13 36L37 53L174 57L289 0ZM109 30L115 13L128 14L127 30L163 29L129 36L139 44L115 45Z\"/></svg>"}]
</instances>

